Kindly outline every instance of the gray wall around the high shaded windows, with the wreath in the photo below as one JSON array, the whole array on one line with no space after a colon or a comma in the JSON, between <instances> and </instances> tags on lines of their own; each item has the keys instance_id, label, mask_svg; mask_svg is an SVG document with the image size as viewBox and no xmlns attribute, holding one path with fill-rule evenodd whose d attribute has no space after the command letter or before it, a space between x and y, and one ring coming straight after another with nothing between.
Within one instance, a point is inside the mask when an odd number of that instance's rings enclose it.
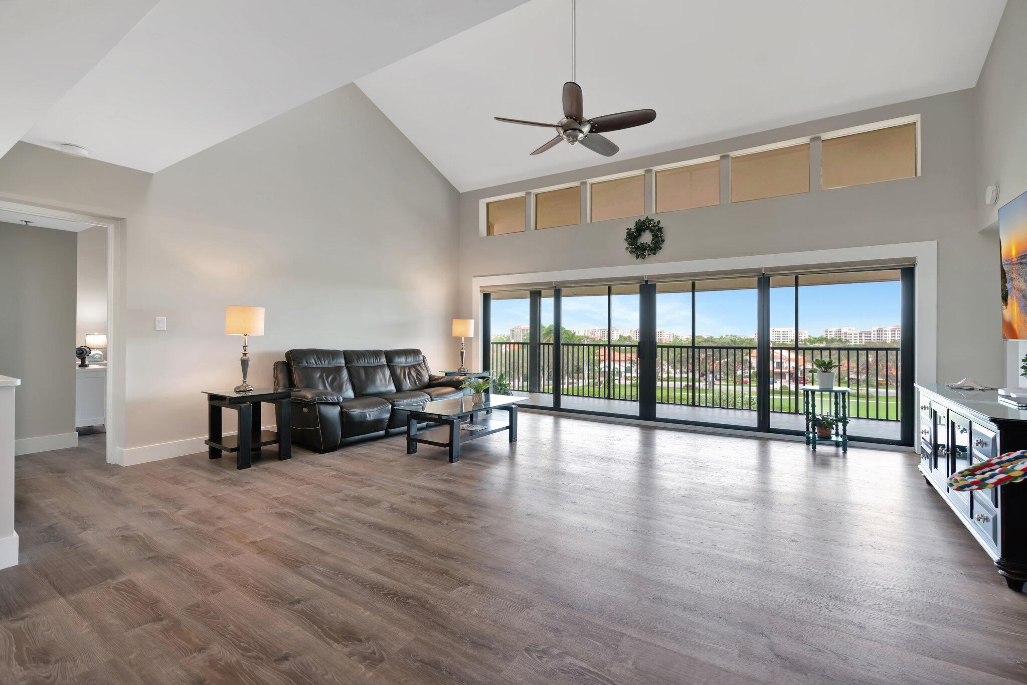
<instances>
[{"instance_id":1,"label":"gray wall around the high shaded windows, with the wreath","mask_svg":"<svg viewBox=\"0 0 1027 685\"><path fill-rule=\"evenodd\" d=\"M647 263L937 240L938 378L1003 378L995 298L997 239L975 220L974 90L831 117L727 141L618 160L585 172L541 177L460 196L460 311L471 310L478 275L636 263L624 251L629 220L611 220L501 236L479 235L479 200L608 174L720 155L901 116L921 115L918 178L812 190L719 206L655 215L663 250ZM581 150L582 155L589 154ZM819 179L810 184L819 187Z\"/></svg>"}]
</instances>

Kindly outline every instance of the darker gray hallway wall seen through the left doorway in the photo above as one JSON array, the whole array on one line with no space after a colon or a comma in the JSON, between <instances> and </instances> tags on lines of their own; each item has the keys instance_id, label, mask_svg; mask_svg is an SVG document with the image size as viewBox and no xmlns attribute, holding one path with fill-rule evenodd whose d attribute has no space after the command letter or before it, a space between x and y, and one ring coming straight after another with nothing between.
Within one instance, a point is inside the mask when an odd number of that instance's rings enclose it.
<instances>
[{"instance_id":1,"label":"darker gray hallway wall seen through the left doorway","mask_svg":"<svg viewBox=\"0 0 1027 685\"><path fill-rule=\"evenodd\" d=\"M0 374L14 437L75 432L76 234L0 223Z\"/></svg>"}]
</instances>

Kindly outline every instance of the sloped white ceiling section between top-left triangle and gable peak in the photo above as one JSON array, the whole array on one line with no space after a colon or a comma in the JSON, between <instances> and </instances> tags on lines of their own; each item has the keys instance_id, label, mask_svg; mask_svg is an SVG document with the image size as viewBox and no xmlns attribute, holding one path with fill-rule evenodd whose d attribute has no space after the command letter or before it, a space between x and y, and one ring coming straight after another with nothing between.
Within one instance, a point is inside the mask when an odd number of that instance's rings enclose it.
<instances>
[{"instance_id":1,"label":"sloped white ceiling section between top-left triangle and gable peak","mask_svg":"<svg viewBox=\"0 0 1027 685\"><path fill-rule=\"evenodd\" d=\"M99 64L91 53L83 56L77 66L88 73L18 136L47 147L74 143L96 159L157 172L521 2L163 0L130 31L125 27L127 34ZM98 6L102 13L107 5L139 9L153 2L13 4L41 5L63 26L58 9L64 5L88 14ZM94 31L92 24L79 28ZM45 49L27 49L3 64L21 68L40 60L49 60Z\"/></svg>"}]
</instances>

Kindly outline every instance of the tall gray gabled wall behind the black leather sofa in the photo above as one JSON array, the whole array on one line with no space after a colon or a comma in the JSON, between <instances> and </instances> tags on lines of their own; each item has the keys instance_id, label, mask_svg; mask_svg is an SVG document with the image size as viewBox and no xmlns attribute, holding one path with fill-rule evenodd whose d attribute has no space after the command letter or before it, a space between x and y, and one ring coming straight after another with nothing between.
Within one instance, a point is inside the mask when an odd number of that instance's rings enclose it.
<instances>
[{"instance_id":1,"label":"tall gray gabled wall behind the black leather sofa","mask_svg":"<svg viewBox=\"0 0 1027 685\"><path fill-rule=\"evenodd\" d=\"M126 447L205 434L200 390L239 382L226 305L267 310L254 385L291 347L455 361L457 192L355 85L152 176L18 144L3 195L126 220Z\"/></svg>"}]
</instances>

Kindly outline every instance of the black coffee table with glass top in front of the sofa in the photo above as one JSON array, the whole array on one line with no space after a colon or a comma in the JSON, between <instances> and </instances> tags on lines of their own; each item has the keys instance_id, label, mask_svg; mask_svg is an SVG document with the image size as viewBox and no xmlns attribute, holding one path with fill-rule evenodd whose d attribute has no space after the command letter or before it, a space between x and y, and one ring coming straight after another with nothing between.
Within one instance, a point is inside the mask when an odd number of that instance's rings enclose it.
<instances>
[{"instance_id":1,"label":"black coffee table with glass top in front of the sofa","mask_svg":"<svg viewBox=\"0 0 1027 685\"><path fill-rule=\"evenodd\" d=\"M407 454L417 452L417 445L434 445L449 449L450 462L460 461L460 445L479 437L509 431L509 442L517 442L517 403L524 397L508 394L486 395L485 402L474 404L469 396L453 399L436 399L424 404L420 409L411 410L407 416ZM509 421L487 418L486 412L500 409L507 412ZM464 420L467 419L467 424ZM440 427L419 431L421 422L438 423ZM468 430L464 425L485 426L481 430Z\"/></svg>"}]
</instances>

